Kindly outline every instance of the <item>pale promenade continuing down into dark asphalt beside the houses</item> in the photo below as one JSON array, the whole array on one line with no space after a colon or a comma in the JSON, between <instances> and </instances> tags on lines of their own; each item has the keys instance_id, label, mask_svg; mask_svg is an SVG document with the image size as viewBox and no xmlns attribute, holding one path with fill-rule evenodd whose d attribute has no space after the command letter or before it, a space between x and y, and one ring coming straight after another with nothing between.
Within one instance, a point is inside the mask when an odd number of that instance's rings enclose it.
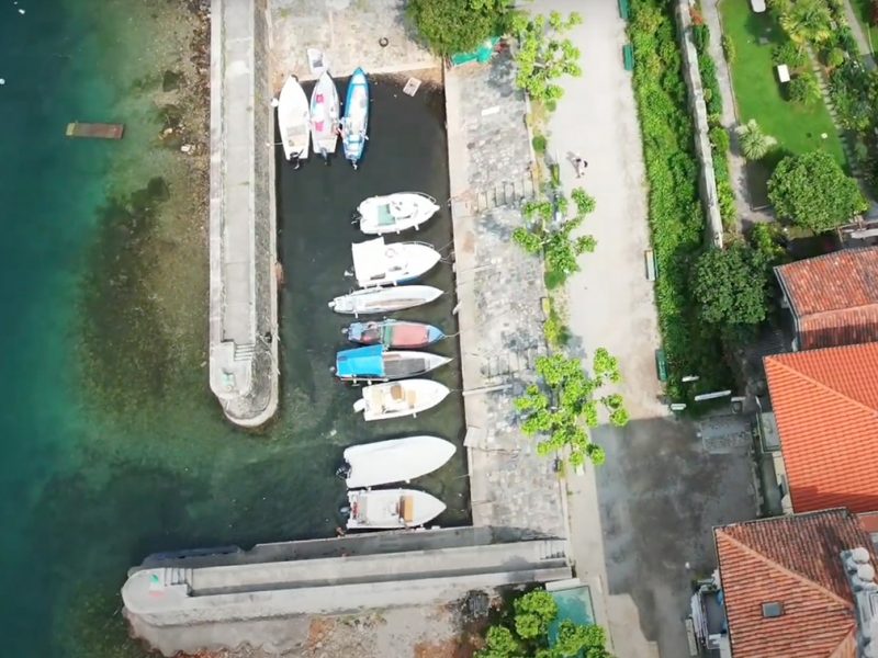
<instances>
[{"instance_id":1,"label":"pale promenade continuing down into dark asphalt beside the houses","mask_svg":"<svg viewBox=\"0 0 878 658\"><path fill-rule=\"evenodd\" d=\"M696 570L713 568L711 525L753 517L750 460L745 449L709 453L696 429L669 417L660 402L657 319L644 275L645 173L617 5L601 0L532 5L534 12L552 10L583 14L584 24L572 33L583 77L564 81L549 149L562 161L564 188L582 185L597 200L584 227L597 249L583 256L583 271L567 286L571 349L586 361L597 347L619 358L620 392L632 417L624 429L594 432L607 463L569 481L572 551L615 655L680 658L688 656L683 619L689 581ZM588 161L582 180L567 161L570 151Z\"/></svg>"}]
</instances>

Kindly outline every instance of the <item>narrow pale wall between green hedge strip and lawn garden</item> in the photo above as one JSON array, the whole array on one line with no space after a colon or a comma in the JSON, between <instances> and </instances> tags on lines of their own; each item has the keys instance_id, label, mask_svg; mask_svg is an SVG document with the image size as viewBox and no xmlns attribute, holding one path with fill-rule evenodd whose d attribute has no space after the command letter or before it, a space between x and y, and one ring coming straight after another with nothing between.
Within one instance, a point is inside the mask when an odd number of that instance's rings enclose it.
<instances>
[{"instance_id":1,"label":"narrow pale wall between green hedge strip and lawn garden","mask_svg":"<svg viewBox=\"0 0 878 658\"><path fill-rule=\"evenodd\" d=\"M689 0L677 0L675 14L683 50L683 73L686 78L686 87L689 89L689 109L695 122L695 152L701 169L699 192L707 217L706 238L711 245L722 247L722 216L717 194L717 179L713 174L713 154L710 150L708 136L710 127L707 123L707 105L705 104L705 90L701 86L701 73L698 70L698 52L693 42L689 7ZM713 37L719 38L719 35L716 34Z\"/></svg>"}]
</instances>

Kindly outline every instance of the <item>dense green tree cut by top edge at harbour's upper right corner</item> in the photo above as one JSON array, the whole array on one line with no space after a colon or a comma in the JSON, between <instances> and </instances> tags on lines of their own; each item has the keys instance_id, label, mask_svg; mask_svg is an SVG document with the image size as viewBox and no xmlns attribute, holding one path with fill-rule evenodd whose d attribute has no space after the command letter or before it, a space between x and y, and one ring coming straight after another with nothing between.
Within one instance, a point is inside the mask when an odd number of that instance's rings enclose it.
<instances>
[{"instance_id":1,"label":"dense green tree cut by top edge at harbour's upper right corner","mask_svg":"<svg viewBox=\"0 0 878 658\"><path fill-rule=\"evenodd\" d=\"M407 11L430 48L448 57L506 33L513 5L513 0L409 0Z\"/></svg>"}]
</instances>

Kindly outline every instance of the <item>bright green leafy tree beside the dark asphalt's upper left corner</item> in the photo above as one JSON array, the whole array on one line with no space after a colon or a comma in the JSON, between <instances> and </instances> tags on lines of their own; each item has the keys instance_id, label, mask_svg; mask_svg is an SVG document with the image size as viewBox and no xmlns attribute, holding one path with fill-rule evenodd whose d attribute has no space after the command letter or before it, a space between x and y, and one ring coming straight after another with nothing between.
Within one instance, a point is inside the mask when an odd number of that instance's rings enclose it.
<instances>
[{"instance_id":1,"label":"bright green leafy tree beside the dark asphalt's upper left corner","mask_svg":"<svg viewBox=\"0 0 878 658\"><path fill-rule=\"evenodd\" d=\"M553 354L537 360L537 373L548 392L534 384L515 401L518 412L526 416L521 431L529 436L542 435L537 453L551 455L566 450L573 466L584 464L586 458L595 465L603 464L606 455L592 443L588 428L598 426L601 407L614 424L628 422L621 396L595 397L608 383L621 381L618 360L598 348L588 376L577 359Z\"/></svg>"}]
</instances>

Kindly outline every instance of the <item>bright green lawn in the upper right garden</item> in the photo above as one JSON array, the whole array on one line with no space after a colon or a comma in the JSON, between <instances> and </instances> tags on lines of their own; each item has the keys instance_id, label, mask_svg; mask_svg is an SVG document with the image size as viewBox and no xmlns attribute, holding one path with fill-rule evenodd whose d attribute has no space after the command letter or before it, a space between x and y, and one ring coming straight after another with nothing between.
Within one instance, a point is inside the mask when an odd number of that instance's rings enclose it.
<instances>
[{"instance_id":1,"label":"bright green lawn in the upper right garden","mask_svg":"<svg viewBox=\"0 0 878 658\"><path fill-rule=\"evenodd\" d=\"M784 98L772 64L772 49L787 37L768 12L753 13L747 0L723 0L720 12L723 30L736 50L732 83L742 123L755 118L766 134L778 140L780 154L823 148L846 168L838 132L826 107L821 103L803 109ZM766 43L761 44L761 39ZM823 133L826 139L821 137Z\"/></svg>"}]
</instances>

